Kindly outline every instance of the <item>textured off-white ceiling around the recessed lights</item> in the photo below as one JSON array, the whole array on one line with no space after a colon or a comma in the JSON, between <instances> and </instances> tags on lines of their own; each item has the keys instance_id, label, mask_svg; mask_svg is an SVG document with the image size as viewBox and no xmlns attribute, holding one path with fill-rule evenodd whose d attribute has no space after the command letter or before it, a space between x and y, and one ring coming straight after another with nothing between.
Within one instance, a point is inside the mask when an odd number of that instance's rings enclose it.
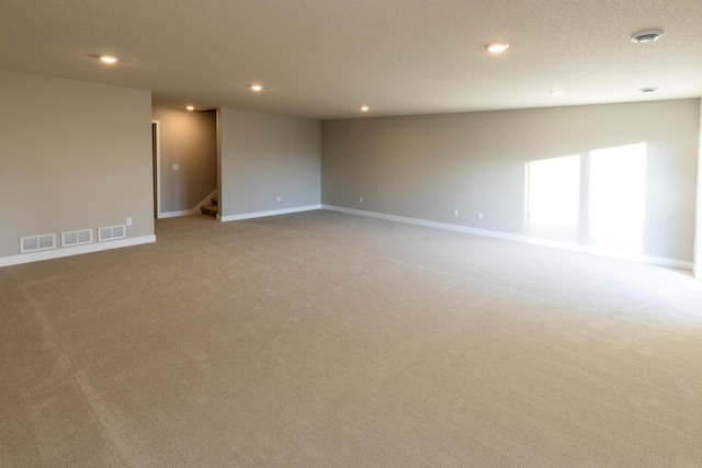
<instances>
[{"instance_id":1,"label":"textured off-white ceiling around the recessed lights","mask_svg":"<svg viewBox=\"0 0 702 468\"><path fill-rule=\"evenodd\" d=\"M702 0L0 0L1 69L315 118L699 98L701 34Z\"/></svg>"}]
</instances>

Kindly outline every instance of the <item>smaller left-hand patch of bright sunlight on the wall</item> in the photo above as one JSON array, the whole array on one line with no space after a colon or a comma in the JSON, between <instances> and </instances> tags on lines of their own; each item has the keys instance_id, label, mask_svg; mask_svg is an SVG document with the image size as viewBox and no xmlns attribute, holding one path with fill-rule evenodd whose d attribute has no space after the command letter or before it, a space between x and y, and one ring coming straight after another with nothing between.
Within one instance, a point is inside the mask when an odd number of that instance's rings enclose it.
<instances>
[{"instance_id":1,"label":"smaller left-hand patch of bright sunlight on the wall","mask_svg":"<svg viewBox=\"0 0 702 468\"><path fill-rule=\"evenodd\" d=\"M525 197L530 227L544 230L577 228L580 214L580 156L528 162Z\"/></svg>"}]
</instances>

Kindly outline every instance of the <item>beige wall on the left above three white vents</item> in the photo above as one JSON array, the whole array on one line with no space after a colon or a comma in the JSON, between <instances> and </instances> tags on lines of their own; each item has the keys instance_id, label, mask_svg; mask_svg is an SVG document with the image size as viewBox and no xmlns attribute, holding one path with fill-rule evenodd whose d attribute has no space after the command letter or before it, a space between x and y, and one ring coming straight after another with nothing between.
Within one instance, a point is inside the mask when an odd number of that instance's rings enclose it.
<instances>
[{"instance_id":1,"label":"beige wall on the left above three white vents","mask_svg":"<svg viewBox=\"0 0 702 468\"><path fill-rule=\"evenodd\" d=\"M154 235L149 91L0 71L0 258L126 217Z\"/></svg>"}]
</instances>

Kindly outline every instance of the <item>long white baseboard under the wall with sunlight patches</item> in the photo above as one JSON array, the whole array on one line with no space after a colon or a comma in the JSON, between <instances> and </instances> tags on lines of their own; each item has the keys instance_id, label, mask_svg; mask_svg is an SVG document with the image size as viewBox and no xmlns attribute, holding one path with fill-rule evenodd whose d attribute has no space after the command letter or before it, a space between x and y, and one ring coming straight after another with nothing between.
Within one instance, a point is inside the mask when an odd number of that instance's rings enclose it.
<instances>
[{"instance_id":1,"label":"long white baseboard under the wall with sunlight patches","mask_svg":"<svg viewBox=\"0 0 702 468\"><path fill-rule=\"evenodd\" d=\"M531 243L531 244L543 246L543 247L553 247L555 249L570 250L570 251L581 252L581 253L591 253L593 255L609 256L612 259L629 260L629 261L641 262L641 263L650 263L654 265L669 266L672 269L681 269L681 270L694 269L694 264L692 262L686 262L682 260L675 260L675 259L666 259L663 256L652 256L652 255L644 255L641 253L622 252L619 250L602 249L599 247L584 246L579 243L562 242L557 240L541 239L541 238L535 238L530 236L491 231L487 229L469 228L466 226L450 225L448 222L428 221L426 219L406 218L404 216L386 215L384 213L365 212L362 209L344 208L341 206L321 205L321 208L329 209L332 212L348 213L350 215L369 216L372 218L388 219L390 221L407 222L410 225L419 225L419 226L426 226L430 228L445 229L445 230L451 230L456 232L465 232L465 233L475 235L475 236L485 236L485 237L491 237L495 239L513 240L517 242L524 242L524 243Z\"/></svg>"}]
</instances>

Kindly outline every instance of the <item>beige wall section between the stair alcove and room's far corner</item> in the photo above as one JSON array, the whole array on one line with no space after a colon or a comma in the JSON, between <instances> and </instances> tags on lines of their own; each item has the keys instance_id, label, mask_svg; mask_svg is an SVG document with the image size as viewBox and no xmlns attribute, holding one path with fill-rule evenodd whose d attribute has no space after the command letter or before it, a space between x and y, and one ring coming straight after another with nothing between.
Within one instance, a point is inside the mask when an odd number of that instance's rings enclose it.
<instances>
[{"instance_id":1,"label":"beige wall section between the stair alcove and room's far corner","mask_svg":"<svg viewBox=\"0 0 702 468\"><path fill-rule=\"evenodd\" d=\"M319 121L234 109L219 117L223 216L319 204Z\"/></svg>"}]
</instances>

